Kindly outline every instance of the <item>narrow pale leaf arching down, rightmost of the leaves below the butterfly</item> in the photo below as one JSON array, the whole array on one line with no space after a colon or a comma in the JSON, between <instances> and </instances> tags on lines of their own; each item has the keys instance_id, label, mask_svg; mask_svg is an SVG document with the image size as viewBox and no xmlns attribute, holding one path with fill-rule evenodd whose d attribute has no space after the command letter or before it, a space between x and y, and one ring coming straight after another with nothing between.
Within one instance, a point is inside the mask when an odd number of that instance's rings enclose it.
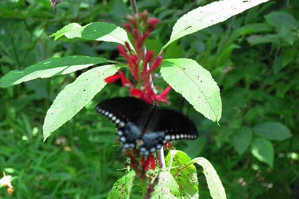
<instances>
[{"instance_id":1,"label":"narrow pale leaf arching down, rightmost of the leaves below the butterfly","mask_svg":"<svg viewBox=\"0 0 299 199\"><path fill-rule=\"evenodd\" d=\"M192 162L202 166L211 197L213 199L226 199L224 187L212 164L205 158L194 158Z\"/></svg>"}]
</instances>

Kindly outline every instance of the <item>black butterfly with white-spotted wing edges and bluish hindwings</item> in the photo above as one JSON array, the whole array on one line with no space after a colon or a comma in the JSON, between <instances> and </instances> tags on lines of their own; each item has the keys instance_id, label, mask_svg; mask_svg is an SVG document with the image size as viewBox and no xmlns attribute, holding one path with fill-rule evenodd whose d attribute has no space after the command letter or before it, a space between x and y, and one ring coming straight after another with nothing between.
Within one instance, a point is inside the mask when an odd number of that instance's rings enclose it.
<instances>
[{"instance_id":1,"label":"black butterfly with white-spotted wing edges and bluish hindwings","mask_svg":"<svg viewBox=\"0 0 299 199\"><path fill-rule=\"evenodd\" d=\"M181 112L153 106L137 98L104 100L96 110L116 124L123 143L120 152L139 144L140 153L148 157L168 141L198 136L194 123Z\"/></svg>"}]
</instances>

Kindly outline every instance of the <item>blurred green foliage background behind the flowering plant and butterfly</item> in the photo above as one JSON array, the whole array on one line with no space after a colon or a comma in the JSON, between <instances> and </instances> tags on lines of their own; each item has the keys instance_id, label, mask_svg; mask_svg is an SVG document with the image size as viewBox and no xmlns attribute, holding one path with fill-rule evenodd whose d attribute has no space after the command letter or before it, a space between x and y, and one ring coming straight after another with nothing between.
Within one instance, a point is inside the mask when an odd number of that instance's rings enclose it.
<instances>
[{"instance_id":1,"label":"blurred green foliage background behind the flowering plant and butterfly","mask_svg":"<svg viewBox=\"0 0 299 199\"><path fill-rule=\"evenodd\" d=\"M182 14L212 1L138 1L140 11L148 9L152 17L161 20L147 47L157 53ZM277 11L281 20L269 15ZM126 0L63 0L55 13L48 0L1 1L0 77L49 57L118 59L116 44L63 37L54 42L49 35L70 22L105 21L122 26L128 13L132 10ZM271 0L181 38L163 54L164 58L196 60L220 87L221 126L205 119L173 91L169 100L172 107L195 121L202 135L174 146L191 158L208 159L229 199L299 198L298 22L298 0ZM124 175L124 161L116 155L115 127L94 110L100 100L126 95L119 85L107 86L42 142L46 110L82 72L0 89L0 171L15 177L14 193L8 195L1 189L0 198L105 199L114 182ZM155 81L165 88L158 75ZM274 146L273 154L265 152L263 161L268 164L259 161L253 150L261 139L256 128L265 122L284 124L292 133L282 141L279 135L264 139ZM200 198L210 199L200 168L198 178ZM137 190L132 198L139 198Z\"/></svg>"}]
</instances>

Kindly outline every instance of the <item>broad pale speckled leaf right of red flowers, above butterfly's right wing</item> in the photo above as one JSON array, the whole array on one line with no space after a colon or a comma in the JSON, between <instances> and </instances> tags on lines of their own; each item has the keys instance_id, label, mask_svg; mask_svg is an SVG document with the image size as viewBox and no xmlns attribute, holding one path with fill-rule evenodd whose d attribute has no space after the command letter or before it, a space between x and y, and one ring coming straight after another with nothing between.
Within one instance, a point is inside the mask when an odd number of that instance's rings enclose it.
<instances>
[{"instance_id":1,"label":"broad pale speckled leaf right of red flowers, above butterfly's right wing","mask_svg":"<svg viewBox=\"0 0 299 199\"><path fill-rule=\"evenodd\" d=\"M161 76L194 108L212 121L221 118L221 98L217 83L210 72L191 59L166 59L161 64Z\"/></svg>"}]
</instances>

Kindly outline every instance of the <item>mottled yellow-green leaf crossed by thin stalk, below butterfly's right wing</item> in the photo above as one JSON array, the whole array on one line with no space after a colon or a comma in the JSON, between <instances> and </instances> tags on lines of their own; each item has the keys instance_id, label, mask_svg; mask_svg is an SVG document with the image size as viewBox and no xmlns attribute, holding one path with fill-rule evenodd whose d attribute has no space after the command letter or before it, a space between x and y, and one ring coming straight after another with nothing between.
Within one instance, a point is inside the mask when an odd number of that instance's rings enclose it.
<instances>
[{"instance_id":1,"label":"mottled yellow-green leaf crossed by thin stalk, below butterfly's right wing","mask_svg":"<svg viewBox=\"0 0 299 199\"><path fill-rule=\"evenodd\" d=\"M165 158L166 167L186 165L191 162L188 155L182 151L170 150ZM172 176L176 174L181 167L173 168L170 170ZM179 187L180 197L182 199L198 199L198 180L196 168L193 164L190 164L183 170L181 170L176 176L174 176Z\"/></svg>"}]
</instances>

